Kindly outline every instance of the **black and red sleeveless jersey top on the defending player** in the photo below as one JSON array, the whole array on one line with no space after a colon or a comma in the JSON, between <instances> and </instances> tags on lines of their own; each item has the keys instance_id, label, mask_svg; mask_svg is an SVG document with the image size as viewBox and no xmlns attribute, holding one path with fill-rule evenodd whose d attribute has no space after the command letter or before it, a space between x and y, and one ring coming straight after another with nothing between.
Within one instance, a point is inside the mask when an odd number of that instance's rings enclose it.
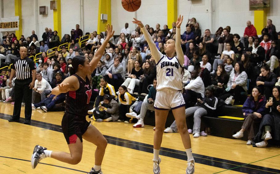
<instances>
[{"instance_id":1,"label":"black and red sleeveless jersey top on the defending player","mask_svg":"<svg viewBox=\"0 0 280 174\"><path fill-rule=\"evenodd\" d=\"M87 111L91 109L89 108L92 94L90 80L86 77L86 81L84 81L77 74L73 75L78 78L80 87L76 91L66 93L65 111L76 116L86 116Z\"/></svg>"}]
</instances>

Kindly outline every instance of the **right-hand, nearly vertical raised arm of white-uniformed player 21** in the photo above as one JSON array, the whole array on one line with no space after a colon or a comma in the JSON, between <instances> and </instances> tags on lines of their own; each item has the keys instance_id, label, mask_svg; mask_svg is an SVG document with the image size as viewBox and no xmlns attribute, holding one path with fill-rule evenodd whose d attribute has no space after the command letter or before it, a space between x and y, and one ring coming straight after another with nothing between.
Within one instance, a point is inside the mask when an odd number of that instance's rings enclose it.
<instances>
[{"instance_id":1,"label":"right-hand, nearly vertical raised arm of white-uniformed player 21","mask_svg":"<svg viewBox=\"0 0 280 174\"><path fill-rule=\"evenodd\" d=\"M180 28L183 22L183 18L184 17L183 16L181 17L180 15L176 21L176 40L175 40L176 54L181 66L183 66L184 64L184 53L181 47L181 28Z\"/></svg>"}]
</instances>

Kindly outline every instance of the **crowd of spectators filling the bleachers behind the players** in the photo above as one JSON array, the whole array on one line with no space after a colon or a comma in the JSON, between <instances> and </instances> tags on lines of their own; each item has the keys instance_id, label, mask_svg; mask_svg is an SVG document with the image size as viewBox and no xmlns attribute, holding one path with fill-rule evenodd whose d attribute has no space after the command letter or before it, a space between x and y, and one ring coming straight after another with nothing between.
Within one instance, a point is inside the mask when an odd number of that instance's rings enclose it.
<instances>
[{"instance_id":1,"label":"crowd of spectators filling the bleachers behind the players","mask_svg":"<svg viewBox=\"0 0 280 174\"><path fill-rule=\"evenodd\" d=\"M280 106L275 104L279 103L280 32L276 32L270 19L261 36L257 35L250 21L246 24L242 36L232 34L230 26L220 27L213 34L209 29L202 32L195 18L186 24L186 31L181 36L181 46L185 52L182 89L186 116L194 115L195 124L190 131L194 137L206 136L205 132L200 132L200 118L203 115L214 112L219 104L224 104L223 101L234 100L236 105L245 102L242 111L246 119L242 130L234 137L241 137L244 130L249 130L250 141L247 144L252 144L255 138L256 146L265 147L271 135L279 140L280 134ZM165 42L176 36L175 23L172 23L172 28L164 25L161 29L159 24L155 29L149 25L145 27L158 50L165 54ZM19 57L18 50L22 46L28 48L29 56L42 52L36 62L37 80L32 93L34 110L63 110L65 95L54 96L51 89L69 76L68 67L76 55L84 55L91 60L106 38L106 32L98 34L96 31L86 33L89 35L87 38L83 37L79 25L61 40L57 33L45 28L39 41L34 31L27 39L23 35L18 39L14 33L6 32L1 41L0 63L12 63ZM80 44L77 39L87 41ZM69 47L62 46L61 51L52 49L63 43L70 43ZM54 54L48 57L49 52ZM9 74L5 70L2 74L1 101L11 102L13 85L6 85ZM97 93L94 108L88 112L93 114L92 119L130 123L131 118L136 118L138 122L133 127L144 127L146 110L153 110L157 79L156 63L139 27L132 30L126 23L119 35L110 38L90 81ZM248 94L250 97L247 97ZM144 101L140 101L138 96L145 97ZM266 103L270 97L272 100ZM252 133L254 120L262 121L262 131L258 135ZM278 126L275 127L275 124ZM165 132L177 132L176 123Z\"/></svg>"}]
</instances>

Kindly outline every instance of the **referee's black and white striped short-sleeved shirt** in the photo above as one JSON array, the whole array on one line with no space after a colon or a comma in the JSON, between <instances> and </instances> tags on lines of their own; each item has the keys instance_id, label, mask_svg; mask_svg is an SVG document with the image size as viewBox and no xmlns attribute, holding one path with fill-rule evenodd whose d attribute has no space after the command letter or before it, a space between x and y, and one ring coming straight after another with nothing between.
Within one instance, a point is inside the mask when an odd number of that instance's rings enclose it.
<instances>
[{"instance_id":1,"label":"referee's black and white striped short-sleeved shirt","mask_svg":"<svg viewBox=\"0 0 280 174\"><path fill-rule=\"evenodd\" d=\"M36 65L29 57L14 60L14 64L11 67L16 71L16 77L18 80L25 80L32 78L32 70L36 69Z\"/></svg>"}]
</instances>

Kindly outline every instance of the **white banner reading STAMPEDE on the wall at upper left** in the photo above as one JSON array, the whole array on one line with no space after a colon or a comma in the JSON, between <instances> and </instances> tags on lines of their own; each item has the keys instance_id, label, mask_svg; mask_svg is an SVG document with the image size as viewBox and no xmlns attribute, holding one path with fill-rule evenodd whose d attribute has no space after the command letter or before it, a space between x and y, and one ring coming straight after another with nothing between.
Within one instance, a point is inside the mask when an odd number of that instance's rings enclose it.
<instances>
[{"instance_id":1,"label":"white banner reading STAMPEDE on the wall at upper left","mask_svg":"<svg viewBox=\"0 0 280 174\"><path fill-rule=\"evenodd\" d=\"M0 32L18 30L19 17L5 17L0 18Z\"/></svg>"}]
</instances>

